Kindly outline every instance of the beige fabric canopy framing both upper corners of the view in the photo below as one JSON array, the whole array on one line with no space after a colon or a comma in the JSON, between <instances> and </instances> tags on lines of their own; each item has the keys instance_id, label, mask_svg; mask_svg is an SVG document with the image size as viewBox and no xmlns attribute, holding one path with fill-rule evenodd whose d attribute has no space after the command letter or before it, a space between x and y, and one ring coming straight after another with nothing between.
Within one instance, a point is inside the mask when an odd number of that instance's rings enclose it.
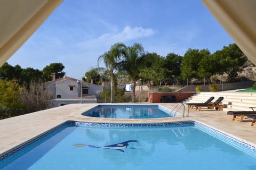
<instances>
[{"instance_id":1,"label":"beige fabric canopy framing both upper corners of the view","mask_svg":"<svg viewBox=\"0 0 256 170\"><path fill-rule=\"evenodd\" d=\"M0 1L0 66L33 35L62 1ZM202 0L202 2L244 54L256 64L256 1Z\"/></svg>"}]
</instances>

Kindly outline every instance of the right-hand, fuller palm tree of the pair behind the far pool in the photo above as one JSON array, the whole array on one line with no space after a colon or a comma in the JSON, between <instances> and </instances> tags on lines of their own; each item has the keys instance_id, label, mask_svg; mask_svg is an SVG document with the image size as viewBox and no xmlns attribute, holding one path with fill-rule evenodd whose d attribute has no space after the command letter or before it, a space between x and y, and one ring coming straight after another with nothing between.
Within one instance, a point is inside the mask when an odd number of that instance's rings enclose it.
<instances>
[{"instance_id":1,"label":"right-hand, fuller palm tree of the pair behind the far pool","mask_svg":"<svg viewBox=\"0 0 256 170\"><path fill-rule=\"evenodd\" d=\"M123 61L119 63L119 70L125 71L132 80L132 102L135 103L136 81L139 79L139 73L143 64L145 52L143 46L134 43L123 51Z\"/></svg>"}]
</instances>

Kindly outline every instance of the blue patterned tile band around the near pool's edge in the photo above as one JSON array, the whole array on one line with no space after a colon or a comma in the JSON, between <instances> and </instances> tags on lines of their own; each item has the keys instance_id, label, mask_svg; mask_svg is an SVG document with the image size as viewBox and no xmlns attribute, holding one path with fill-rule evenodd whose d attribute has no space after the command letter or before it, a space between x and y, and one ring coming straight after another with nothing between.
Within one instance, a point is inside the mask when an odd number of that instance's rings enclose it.
<instances>
[{"instance_id":1,"label":"blue patterned tile band around the near pool's edge","mask_svg":"<svg viewBox=\"0 0 256 170\"><path fill-rule=\"evenodd\" d=\"M256 147L251 143L247 143L241 139L233 137L227 133L221 132L217 129L214 129L210 126L207 126L203 123L197 121L181 121L181 122L169 122L169 123L94 123L94 122L81 122L81 121L66 121L54 128L37 135L37 137L28 140L27 142L21 143L19 146L14 147L10 150L7 150L0 154L0 162L10 158L12 155L17 154L22 149L31 147L36 144L36 142L51 138L52 135L58 133L67 126L77 126L84 128L177 128L177 127L186 127L186 126L195 126L199 130L202 130L214 137L222 140L223 142L229 143L232 146L242 149L243 151L255 155Z\"/></svg>"}]
</instances>

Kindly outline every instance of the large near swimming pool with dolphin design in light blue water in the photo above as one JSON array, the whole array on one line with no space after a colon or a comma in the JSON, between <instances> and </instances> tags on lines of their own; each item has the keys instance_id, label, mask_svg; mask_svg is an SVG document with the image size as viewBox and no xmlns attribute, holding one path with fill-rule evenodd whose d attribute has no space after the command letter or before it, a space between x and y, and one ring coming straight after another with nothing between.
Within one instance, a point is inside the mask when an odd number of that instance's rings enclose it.
<instances>
[{"instance_id":1,"label":"large near swimming pool with dolphin design in light blue water","mask_svg":"<svg viewBox=\"0 0 256 170\"><path fill-rule=\"evenodd\" d=\"M256 165L255 146L194 121L68 121L20 147L1 155L1 169L254 169Z\"/></svg>"}]
</instances>

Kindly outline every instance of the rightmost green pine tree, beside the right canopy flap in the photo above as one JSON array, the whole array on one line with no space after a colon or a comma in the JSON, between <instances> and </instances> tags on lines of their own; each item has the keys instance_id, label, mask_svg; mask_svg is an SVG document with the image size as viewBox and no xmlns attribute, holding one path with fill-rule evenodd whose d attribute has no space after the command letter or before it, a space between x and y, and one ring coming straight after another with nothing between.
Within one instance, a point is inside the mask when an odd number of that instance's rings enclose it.
<instances>
[{"instance_id":1,"label":"rightmost green pine tree, beside the right canopy flap","mask_svg":"<svg viewBox=\"0 0 256 170\"><path fill-rule=\"evenodd\" d=\"M217 61L219 73L227 73L229 80L233 82L237 77L237 72L247 61L247 57L236 44L224 46L221 50L216 51L213 57Z\"/></svg>"}]
</instances>

